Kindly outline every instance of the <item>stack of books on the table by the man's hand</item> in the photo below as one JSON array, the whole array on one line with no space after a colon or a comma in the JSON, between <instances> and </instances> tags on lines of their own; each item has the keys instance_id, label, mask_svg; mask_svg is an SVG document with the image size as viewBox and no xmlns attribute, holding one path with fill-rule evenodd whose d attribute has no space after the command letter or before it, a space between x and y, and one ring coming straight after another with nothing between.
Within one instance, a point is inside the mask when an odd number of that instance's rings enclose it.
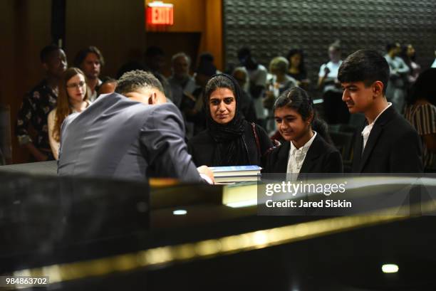
<instances>
[{"instance_id":1,"label":"stack of books on the table by the man's hand","mask_svg":"<svg viewBox=\"0 0 436 291\"><path fill-rule=\"evenodd\" d=\"M257 181L260 177L260 166L213 166L214 179L217 183Z\"/></svg>"}]
</instances>

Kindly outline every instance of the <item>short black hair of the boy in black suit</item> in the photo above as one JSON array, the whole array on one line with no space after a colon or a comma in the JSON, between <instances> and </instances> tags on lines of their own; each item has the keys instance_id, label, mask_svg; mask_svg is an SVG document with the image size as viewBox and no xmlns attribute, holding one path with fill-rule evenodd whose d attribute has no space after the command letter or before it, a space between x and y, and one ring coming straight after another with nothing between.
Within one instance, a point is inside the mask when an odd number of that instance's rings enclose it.
<instances>
[{"instance_id":1,"label":"short black hair of the boy in black suit","mask_svg":"<svg viewBox=\"0 0 436 291\"><path fill-rule=\"evenodd\" d=\"M363 82L366 87L380 81L384 85L385 94L389 80L389 65L377 51L356 51L348 55L339 67L338 80L341 83Z\"/></svg>"}]
</instances>

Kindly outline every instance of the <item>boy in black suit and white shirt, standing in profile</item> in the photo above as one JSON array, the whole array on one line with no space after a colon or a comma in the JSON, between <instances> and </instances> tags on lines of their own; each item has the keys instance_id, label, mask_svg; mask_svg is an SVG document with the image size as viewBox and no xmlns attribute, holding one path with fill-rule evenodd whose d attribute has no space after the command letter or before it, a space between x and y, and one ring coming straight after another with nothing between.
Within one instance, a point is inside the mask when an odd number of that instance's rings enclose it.
<instances>
[{"instance_id":1,"label":"boy in black suit and white shirt, standing in profile","mask_svg":"<svg viewBox=\"0 0 436 291\"><path fill-rule=\"evenodd\" d=\"M385 97L389 65L376 51L351 54L339 68L343 102L350 113L362 112L365 125L354 145L354 173L420 173L420 137Z\"/></svg>"}]
</instances>

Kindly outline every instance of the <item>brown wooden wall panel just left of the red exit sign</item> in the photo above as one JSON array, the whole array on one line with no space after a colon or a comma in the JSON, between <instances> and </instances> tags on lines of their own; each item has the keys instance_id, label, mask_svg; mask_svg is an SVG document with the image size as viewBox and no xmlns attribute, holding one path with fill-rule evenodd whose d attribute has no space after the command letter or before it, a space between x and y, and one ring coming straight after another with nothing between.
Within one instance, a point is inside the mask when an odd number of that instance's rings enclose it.
<instances>
[{"instance_id":1,"label":"brown wooden wall panel just left of the red exit sign","mask_svg":"<svg viewBox=\"0 0 436 291\"><path fill-rule=\"evenodd\" d=\"M97 46L105 57L102 75L145 51L144 2L140 0L75 0L66 6L66 51L72 61L86 46Z\"/></svg>"}]
</instances>

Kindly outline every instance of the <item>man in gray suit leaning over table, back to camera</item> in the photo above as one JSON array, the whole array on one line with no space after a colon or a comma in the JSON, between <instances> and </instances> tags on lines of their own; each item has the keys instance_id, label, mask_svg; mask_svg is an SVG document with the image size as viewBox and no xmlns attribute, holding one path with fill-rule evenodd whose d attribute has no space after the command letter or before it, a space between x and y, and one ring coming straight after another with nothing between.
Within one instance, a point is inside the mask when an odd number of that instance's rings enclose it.
<instances>
[{"instance_id":1,"label":"man in gray suit leaning over table, back to camera","mask_svg":"<svg viewBox=\"0 0 436 291\"><path fill-rule=\"evenodd\" d=\"M212 182L212 171L192 162L184 137L180 111L166 102L159 80L130 71L115 93L100 95L63 122L58 175Z\"/></svg>"}]
</instances>

